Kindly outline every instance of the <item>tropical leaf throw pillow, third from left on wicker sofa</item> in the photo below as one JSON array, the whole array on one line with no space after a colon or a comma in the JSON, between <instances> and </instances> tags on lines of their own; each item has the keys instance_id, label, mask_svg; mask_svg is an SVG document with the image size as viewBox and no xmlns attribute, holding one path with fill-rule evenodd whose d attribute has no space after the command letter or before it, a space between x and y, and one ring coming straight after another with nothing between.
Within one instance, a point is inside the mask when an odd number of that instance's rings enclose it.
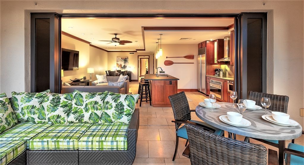
<instances>
[{"instance_id":1,"label":"tropical leaf throw pillow, third from left on wicker sofa","mask_svg":"<svg viewBox=\"0 0 304 165\"><path fill-rule=\"evenodd\" d=\"M54 124L68 124L67 118L72 113L73 93L47 94L46 102L43 102L40 109L45 111L48 122Z\"/></svg>"}]
</instances>

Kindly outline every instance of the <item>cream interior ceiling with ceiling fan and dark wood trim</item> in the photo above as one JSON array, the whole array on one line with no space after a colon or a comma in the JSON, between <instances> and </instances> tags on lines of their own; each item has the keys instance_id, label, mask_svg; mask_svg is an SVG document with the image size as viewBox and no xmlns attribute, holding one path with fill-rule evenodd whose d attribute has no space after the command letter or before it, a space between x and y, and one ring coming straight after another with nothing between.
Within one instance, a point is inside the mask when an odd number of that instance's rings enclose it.
<instances>
[{"instance_id":1,"label":"cream interior ceiling with ceiling fan and dark wood trim","mask_svg":"<svg viewBox=\"0 0 304 165\"><path fill-rule=\"evenodd\" d=\"M92 45L105 50L134 51L144 49L142 26L228 26L233 23L233 18L203 18L203 19L92 19L74 18L62 19L62 31L87 40ZM71 28L72 27L72 28ZM129 40L133 43L119 45L118 43L102 42L98 40L111 40L114 33L118 33L120 40ZM229 35L227 31L145 31L146 51L156 49L157 38L162 36L162 44L197 44L199 42L223 38ZM181 41L180 38L191 38ZM193 40L195 39L195 40ZM138 41L138 42L135 42Z\"/></svg>"}]
</instances>

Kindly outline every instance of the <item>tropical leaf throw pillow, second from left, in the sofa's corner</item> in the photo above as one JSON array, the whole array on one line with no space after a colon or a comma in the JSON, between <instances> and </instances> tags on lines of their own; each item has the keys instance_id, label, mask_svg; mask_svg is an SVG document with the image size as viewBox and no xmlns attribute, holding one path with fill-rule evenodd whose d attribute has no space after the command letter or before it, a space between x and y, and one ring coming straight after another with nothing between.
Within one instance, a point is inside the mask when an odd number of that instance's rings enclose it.
<instances>
[{"instance_id":1,"label":"tropical leaf throw pillow, second from left, in the sofa's corner","mask_svg":"<svg viewBox=\"0 0 304 165\"><path fill-rule=\"evenodd\" d=\"M12 92L11 105L19 122L43 123L47 122L45 111L41 110L41 104L47 102L46 90L40 93Z\"/></svg>"}]
</instances>

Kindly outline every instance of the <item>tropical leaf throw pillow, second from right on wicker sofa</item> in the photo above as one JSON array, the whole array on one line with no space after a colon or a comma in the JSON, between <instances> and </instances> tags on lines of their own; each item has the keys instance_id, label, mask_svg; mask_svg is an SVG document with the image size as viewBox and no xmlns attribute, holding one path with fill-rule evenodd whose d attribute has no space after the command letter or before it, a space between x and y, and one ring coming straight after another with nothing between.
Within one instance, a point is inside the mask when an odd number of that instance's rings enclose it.
<instances>
[{"instance_id":1,"label":"tropical leaf throw pillow, second from right on wicker sofa","mask_svg":"<svg viewBox=\"0 0 304 165\"><path fill-rule=\"evenodd\" d=\"M102 112L104 92L73 92L72 113L68 122L98 123Z\"/></svg>"}]
</instances>

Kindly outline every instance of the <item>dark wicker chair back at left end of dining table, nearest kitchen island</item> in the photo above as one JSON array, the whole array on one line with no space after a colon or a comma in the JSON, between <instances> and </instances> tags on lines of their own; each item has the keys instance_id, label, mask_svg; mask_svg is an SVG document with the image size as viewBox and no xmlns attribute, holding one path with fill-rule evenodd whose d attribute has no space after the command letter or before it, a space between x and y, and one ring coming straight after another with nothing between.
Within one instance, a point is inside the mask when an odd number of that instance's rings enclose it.
<instances>
[{"instance_id":1,"label":"dark wicker chair back at left end of dining table, nearest kitchen island","mask_svg":"<svg viewBox=\"0 0 304 165\"><path fill-rule=\"evenodd\" d=\"M190 107L184 91L169 96L169 100L175 120L191 120ZM181 123L175 123L175 129L178 129L179 126Z\"/></svg>"}]
</instances>

